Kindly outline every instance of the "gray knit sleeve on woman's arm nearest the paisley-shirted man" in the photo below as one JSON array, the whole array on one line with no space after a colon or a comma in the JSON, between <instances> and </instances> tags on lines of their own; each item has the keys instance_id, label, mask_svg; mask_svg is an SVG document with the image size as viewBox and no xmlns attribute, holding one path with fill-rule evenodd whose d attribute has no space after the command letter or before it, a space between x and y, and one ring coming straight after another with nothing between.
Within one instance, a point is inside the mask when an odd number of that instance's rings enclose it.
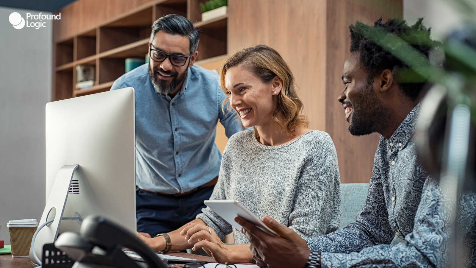
<instances>
[{"instance_id":1,"label":"gray knit sleeve on woman's arm nearest the paisley-shirted man","mask_svg":"<svg viewBox=\"0 0 476 268\"><path fill-rule=\"evenodd\" d=\"M309 141L304 158L289 228L301 237L318 237L337 230L340 222L341 195L337 153L327 133L319 132Z\"/></svg>"}]
</instances>

